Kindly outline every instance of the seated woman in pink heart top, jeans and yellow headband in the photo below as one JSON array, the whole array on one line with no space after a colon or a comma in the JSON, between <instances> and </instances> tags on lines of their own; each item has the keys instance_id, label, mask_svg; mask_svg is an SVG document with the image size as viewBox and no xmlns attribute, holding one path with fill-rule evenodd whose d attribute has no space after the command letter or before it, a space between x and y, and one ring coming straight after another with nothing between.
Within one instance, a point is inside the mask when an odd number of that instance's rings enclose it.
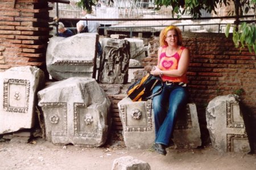
<instances>
[{"instance_id":1,"label":"seated woman in pink heart top, jeans and yellow headband","mask_svg":"<svg viewBox=\"0 0 256 170\"><path fill-rule=\"evenodd\" d=\"M155 117L154 149L166 155L166 148L174 145L172 134L177 114L186 107L188 102L187 69L189 50L182 46L179 28L168 26L160 33L158 65L151 70L152 75L159 75L163 80L163 91L152 100ZM153 93L161 85L155 86Z\"/></svg>"}]
</instances>

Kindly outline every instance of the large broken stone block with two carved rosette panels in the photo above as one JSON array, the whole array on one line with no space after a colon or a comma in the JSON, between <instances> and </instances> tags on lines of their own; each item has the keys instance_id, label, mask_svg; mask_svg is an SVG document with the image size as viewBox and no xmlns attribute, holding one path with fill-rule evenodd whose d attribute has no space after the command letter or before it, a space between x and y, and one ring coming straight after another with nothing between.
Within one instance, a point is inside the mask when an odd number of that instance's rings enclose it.
<instances>
[{"instance_id":1,"label":"large broken stone block with two carved rosette panels","mask_svg":"<svg viewBox=\"0 0 256 170\"><path fill-rule=\"evenodd\" d=\"M38 92L52 143L98 147L109 131L110 100L92 78L69 78Z\"/></svg>"}]
</instances>

